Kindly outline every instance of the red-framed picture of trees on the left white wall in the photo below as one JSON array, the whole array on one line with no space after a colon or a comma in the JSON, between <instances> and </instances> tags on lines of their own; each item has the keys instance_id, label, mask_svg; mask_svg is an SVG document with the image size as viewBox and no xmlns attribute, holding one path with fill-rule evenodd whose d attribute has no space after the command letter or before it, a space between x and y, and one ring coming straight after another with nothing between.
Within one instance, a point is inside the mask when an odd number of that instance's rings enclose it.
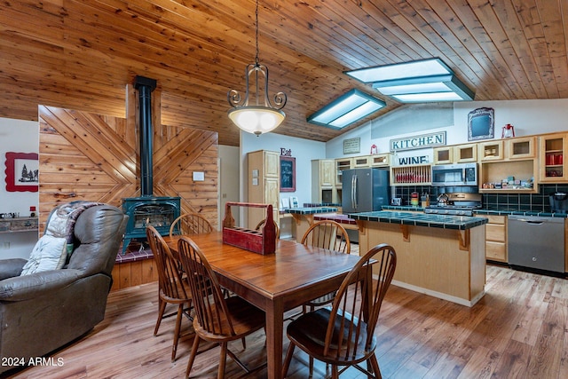
<instances>
[{"instance_id":1,"label":"red-framed picture of trees on the left white wall","mask_svg":"<svg viewBox=\"0 0 568 379\"><path fill-rule=\"evenodd\" d=\"M37 192L39 162L36 153L6 153L6 191Z\"/></svg>"}]
</instances>

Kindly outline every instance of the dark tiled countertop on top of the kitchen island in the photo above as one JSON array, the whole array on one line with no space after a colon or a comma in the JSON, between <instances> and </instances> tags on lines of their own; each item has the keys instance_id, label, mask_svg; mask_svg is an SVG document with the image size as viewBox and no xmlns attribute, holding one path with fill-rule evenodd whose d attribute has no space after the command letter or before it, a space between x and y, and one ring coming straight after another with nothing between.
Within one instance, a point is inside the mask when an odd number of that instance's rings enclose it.
<instances>
[{"instance_id":1,"label":"dark tiled countertop on top of the kitchen island","mask_svg":"<svg viewBox=\"0 0 568 379\"><path fill-rule=\"evenodd\" d=\"M351 213L350 218L379 223L438 227L443 229L466 230L487 224L485 217L442 216L418 212L397 212L379 210L376 212Z\"/></svg>"}]
</instances>

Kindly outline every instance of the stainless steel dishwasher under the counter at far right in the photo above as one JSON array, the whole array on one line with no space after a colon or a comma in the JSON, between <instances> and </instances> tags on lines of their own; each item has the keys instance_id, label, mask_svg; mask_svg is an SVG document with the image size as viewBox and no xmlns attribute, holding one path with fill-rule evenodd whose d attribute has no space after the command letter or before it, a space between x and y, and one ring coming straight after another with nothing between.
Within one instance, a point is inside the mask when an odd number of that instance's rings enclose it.
<instances>
[{"instance_id":1,"label":"stainless steel dishwasher under the counter at far right","mask_svg":"<svg viewBox=\"0 0 568 379\"><path fill-rule=\"evenodd\" d=\"M564 272L564 218L508 217L509 265Z\"/></svg>"}]
</instances>

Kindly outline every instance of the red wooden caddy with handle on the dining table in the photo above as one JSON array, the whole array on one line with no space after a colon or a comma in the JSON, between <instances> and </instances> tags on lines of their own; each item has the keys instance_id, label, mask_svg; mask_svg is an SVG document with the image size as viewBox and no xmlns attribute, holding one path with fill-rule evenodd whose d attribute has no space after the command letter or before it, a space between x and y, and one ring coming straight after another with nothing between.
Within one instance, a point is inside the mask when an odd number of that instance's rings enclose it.
<instances>
[{"instance_id":1,"label":"red wooden caddy with handle on the dining table","mask_svg":"<svg viewBox=\"0 0 568 379\"><path fill-rule=\"evenodd\" d=\"M231 207L265 208L266 221L260 230L251 230L234 225ZM223 243L247 249L254 253L266 255L276 251L276 225L272 216L272 204L255 204L251 202L227 202L223 219Z\"/></svg>"}]
</instances>

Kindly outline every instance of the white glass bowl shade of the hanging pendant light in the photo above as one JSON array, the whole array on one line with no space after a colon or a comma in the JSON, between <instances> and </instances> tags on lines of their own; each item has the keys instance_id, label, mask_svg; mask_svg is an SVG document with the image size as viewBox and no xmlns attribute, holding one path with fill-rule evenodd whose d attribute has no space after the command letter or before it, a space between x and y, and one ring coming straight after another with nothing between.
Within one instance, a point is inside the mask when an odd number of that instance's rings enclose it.
<instances>
[{"instance_id":1,"label":"white glass bowl shade of the hanging pendant light","mask_svg":"<svg viewBox=\"0 0 568 379\"><path fill-rule=\"evenodd\" d=\"M278 128L286 116L280 109L260 106L235 107L228 114L241 130L256 135Z\"/></svg>"}]
</instances>

